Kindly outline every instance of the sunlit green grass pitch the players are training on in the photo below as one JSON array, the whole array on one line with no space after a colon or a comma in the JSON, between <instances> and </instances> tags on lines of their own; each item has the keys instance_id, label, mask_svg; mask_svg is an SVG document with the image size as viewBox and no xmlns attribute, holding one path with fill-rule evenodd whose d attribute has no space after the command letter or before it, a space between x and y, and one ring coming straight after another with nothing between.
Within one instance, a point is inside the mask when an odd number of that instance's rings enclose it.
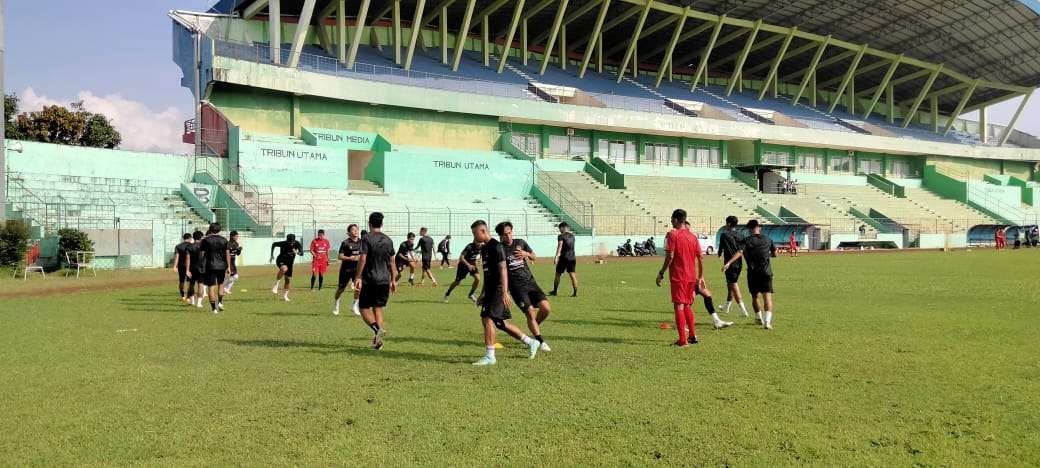
<instances>
[{"instance_id":1,"label":"sunlit green grass pitch the players are training on","mask_svg":"<svg viewBox=\"0 0 1040 468\"><path fill-rule=\"evenodd\" d=\"M0 280L0 465L1037 465L1038 259L779 258L776 330L698 304L687 349L658 329L659 258L582 262L553 350L503 336L492 368L466 289L404 287L373 352L333 291L282 303L268 267L216 316L168 271Z\"/></svg>"}]
</instances>

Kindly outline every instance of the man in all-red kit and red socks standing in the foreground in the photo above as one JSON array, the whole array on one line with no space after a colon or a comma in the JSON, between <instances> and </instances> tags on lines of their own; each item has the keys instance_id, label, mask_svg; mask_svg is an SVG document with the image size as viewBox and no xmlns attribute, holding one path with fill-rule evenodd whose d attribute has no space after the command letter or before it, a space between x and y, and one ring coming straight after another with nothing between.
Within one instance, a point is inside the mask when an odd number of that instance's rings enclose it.
<instances>
[{"instance_id":1,"label":"man in all-red kit and red socks standing in the foreground","mask_svg":"<svg viewBox=\"0 0 1040 468\"><path fill-rule=\"evenodd\" d=\"M685 210L677 209L672 212L674 229L665 236L665 262L657 271L656 280L657 287L660 287L661 281L665 280L665 271L669 272L675 328L679 332L679 340L675 344L679 347L699 342L693 306L699 279L704 276L700 242L693 232L683 228L685 223Z\"/></svg>"}]
</instances>

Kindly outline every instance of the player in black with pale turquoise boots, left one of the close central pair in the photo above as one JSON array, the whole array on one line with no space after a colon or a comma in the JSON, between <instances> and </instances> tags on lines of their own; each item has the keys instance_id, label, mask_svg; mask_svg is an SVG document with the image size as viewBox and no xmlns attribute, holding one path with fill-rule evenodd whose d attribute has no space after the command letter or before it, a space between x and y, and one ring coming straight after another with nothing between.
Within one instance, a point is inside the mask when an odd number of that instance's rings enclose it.
<instances>
[{"instance_id":1,"label":"player in black with pale turquoise boots, left one of the close central pair","mask_svg":"<svg viewBox=\"0 0 1040 468\"><path fill-rule=\"evenodd\" d=\"M508 333L527 345L527 359L535 359L541 343L524 335L517 326L510 323L512 318L510 306L510 272L506 267L506 254L502 243L491 237L488 223L477 219L470 225L473 232L473 242L483 244L480 248L482 265L484 267L484 291L476 300L480 306L480 322L484 324L485 354L473 363L474 366L493 366L495 359L495 329Z\"/></svg>"}]
</instances>

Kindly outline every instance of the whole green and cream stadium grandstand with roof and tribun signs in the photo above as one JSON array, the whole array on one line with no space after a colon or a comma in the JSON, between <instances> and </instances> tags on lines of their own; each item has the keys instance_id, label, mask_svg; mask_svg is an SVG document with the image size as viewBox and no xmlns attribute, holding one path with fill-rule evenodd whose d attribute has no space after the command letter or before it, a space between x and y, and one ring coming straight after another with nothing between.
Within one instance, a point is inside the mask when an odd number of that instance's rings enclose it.
<instances>
[{"instance_id":1,"label":"whole green and cream stadium grandstand with roof and tribun signs","mask_svg":"<svg viewBox=\"0 0 1040 468\"><path fill-rule=\"evenodd\" d=\"M98 255L133 266L211 220L262 263L271 238L376 210L395 239L510 219L543 252L566 220L579 255L664 236L677 207L709 239L736 214L821 250L965 246L1040 217L1040 139L1015 129L1040 81L1035 1L222 0L170 18L194 154L17 142L8 215L118 231Z\"/></svg>"}]
</instances>

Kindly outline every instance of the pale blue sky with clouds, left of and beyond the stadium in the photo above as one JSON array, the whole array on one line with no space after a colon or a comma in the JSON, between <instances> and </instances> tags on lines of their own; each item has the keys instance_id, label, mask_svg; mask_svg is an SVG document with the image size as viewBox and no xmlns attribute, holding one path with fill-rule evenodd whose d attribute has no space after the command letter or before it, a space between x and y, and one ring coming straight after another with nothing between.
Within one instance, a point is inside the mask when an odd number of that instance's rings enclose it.
<instances>
[{"instance_id":1,"label":"pale blue sky with clouds, left of and beyond the stadium","mask_svg":"<svg viewBox=\"0 0 1040 468\"><path fill-rule=\"evenodd\" d=\"M6 93L23 107L82 99L116 121L125 148L186 151L180 126L191 95L171 59L171 9L205 10L210 0L9 0ZM1040 96L1019 128L1040 133ZM1017 100L993 106L1007 122ZM113 115L114 113L114 115Z\"/></svg>"}]
</instances>

